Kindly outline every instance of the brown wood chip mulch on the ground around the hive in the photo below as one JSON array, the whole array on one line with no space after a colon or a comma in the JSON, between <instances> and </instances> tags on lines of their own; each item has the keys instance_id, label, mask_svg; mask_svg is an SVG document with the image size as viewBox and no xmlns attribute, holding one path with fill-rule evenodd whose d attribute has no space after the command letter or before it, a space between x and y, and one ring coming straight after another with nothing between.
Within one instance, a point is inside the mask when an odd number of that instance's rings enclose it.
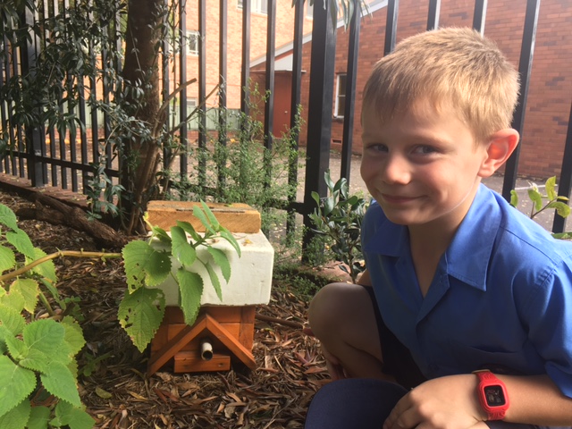
<instances>
[{"instance_id":1,"label":"brown wood chip mulch on the ground around the hive","mask_svg":"<svg viewBox=\"0 0 572 429\"><path fill-rule=\"evenodd\" d=\"M0 203L14 211L31 206L6 191ZM101 250L65 226L29 220L21 228L47 253ZM55 265L62 296L80 298L88 342L80 352L80 394L97 428L301 428L309 401L328 383L317 341L300 329L307 301L283 279L274 282L270 304L257 307L265 319L255 324L257 369L173 374L165 367L147 377L147 353L139 353L116 319L126 288L121 261L67 258Z\"/></svg>"}]
</instances>

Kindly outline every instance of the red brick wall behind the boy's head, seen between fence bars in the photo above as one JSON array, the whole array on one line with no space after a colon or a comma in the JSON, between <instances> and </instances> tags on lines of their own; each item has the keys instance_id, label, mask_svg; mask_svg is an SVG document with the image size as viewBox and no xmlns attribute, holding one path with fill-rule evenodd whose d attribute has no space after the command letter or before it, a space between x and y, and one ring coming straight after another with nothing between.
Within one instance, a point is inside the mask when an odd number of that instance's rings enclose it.
<instances>
[{"instance_id":1,"label":"red brick wall behind the boy's head, seen between fence bars","mask_svg":"<svg viewBox=\"0 0 572 429\"><path fill-rule=\"evenodd\" d=\"M401 0L397 40L424 31L428 2ZM442 0L440 26L471 26L473 0ZM516 66L524 27L526 2L524 0L490 0L488 2L484 33L494 39L501 50ZM353 150L361 152L362 89L374 62L383 55L386 9L375 11L372 17L361 21L360 52L357 66L356 122ZM521 139L518 173L535 178L559 175L568 117L572 101L572 2L543 0L534 47L525 125ZM349 33L338 30L335 73L346 72ZM311 43L304 46L302 68L302 104L307 120L307 93L309 88ZM332 140L340 140L342 123L334 120ZM301 144L306 144L306 132ZM334 145L335 147L335 145Z\"/></svg>"}]
</instances>

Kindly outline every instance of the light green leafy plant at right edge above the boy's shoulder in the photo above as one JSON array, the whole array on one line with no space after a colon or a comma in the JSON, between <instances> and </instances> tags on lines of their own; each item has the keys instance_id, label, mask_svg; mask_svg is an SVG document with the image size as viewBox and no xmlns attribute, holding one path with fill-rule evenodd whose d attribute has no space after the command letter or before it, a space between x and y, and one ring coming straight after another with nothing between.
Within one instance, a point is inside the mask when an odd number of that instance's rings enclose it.
<instances>
[{"instance_id":1,"label":"light green leafy plant at right edge above the boy's shoulder","mask_svg":"<svg viewBox=\"0 0 572 429\"><path fill-rule=\"evenodd\" d=\"M567 204L568 198L558 195L556 191L556 176L550 177L544 183L544 188L546 189L546 195L540 192L535 183L532 183L531 188L528 189L528 198L533 203L529 214L530 218L534 219L537 214L541 214L547 209L555 209L560 216L568 217L570 214L570 206ZM518 195L515 189L510 191L510 205L518 206ZM572 239L572 232L554 233L552 236L556 239Z\"/></svg>"}]
</instances>

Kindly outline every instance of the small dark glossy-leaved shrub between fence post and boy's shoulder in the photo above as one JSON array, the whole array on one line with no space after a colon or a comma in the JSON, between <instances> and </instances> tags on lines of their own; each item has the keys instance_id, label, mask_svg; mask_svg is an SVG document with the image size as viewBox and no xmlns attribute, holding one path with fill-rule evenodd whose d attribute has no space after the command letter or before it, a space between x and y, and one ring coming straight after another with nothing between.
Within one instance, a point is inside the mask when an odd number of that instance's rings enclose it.
<instances>
[{"instance_id":1,"label":"small dark glossy-leaved shrub between fence post and boy's shoulder","mask_svg":"<svg viewBox=\"0 0 572 429\"><path fill-rule=\"evenodd\" d=\"M349 273L353 282L365 270L361 251L361 223L368 206L365 198L349 195L349 185L345 178L335 183L330 172L325 172L324 180L329 190L326 198L312 192L317 208L310 219L315 225L316 234L326 237L336 260L342 262L341 269Z\"/></svg>"}]
</instances>

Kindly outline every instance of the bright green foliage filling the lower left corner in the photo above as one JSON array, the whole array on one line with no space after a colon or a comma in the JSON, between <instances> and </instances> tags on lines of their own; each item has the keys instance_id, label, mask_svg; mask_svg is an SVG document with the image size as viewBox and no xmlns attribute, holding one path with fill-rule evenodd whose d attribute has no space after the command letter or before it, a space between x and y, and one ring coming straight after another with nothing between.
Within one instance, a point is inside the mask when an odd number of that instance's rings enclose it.
<instances>
[{"instance_id":1,"label":"bright green foliage filling the lower left corner","mask_svg":"<svg viewBox=\"0 0 572 429\"><path fill-rule=\"evenodd\" d=\"M47 294L64 306L54 287L54 263L46 259L29 265L15 278L4 274L18 269L17 261L30 264L46 254L33 246L4 205L0 225L0 427L92 427L77 388L75 356L85 344L80 325L71 316L62 318L46 299ZM40 302L47 318L35 316ZM42 392L55 405L35 407L34 398ZM74 416L73 422L63 415Z\"/></svg>"}]
</instances>

